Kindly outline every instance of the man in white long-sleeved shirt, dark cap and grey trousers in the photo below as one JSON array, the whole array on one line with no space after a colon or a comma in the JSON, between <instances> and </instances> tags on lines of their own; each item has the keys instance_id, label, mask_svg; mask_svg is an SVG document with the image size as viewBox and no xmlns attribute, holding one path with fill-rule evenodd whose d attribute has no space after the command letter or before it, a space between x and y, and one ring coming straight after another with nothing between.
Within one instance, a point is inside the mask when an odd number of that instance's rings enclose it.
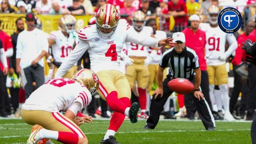
<instances>
[{"instance_id":1,"label":"man in white long-sleeved shirt, dark cap and grey trousers","mask_svg":"<svg viewBox=\"0 0 256 144\"><path fill-rule=\"evenodd\" d=\"M26 99L34 90L34 81L36 88L45 83L43 56L48 51L48 42L45 33L35 28L35 20L34 14L26 15L28 29L19 33L16 46L17 73L21 74Z\"/></svg>"}]
</instances>

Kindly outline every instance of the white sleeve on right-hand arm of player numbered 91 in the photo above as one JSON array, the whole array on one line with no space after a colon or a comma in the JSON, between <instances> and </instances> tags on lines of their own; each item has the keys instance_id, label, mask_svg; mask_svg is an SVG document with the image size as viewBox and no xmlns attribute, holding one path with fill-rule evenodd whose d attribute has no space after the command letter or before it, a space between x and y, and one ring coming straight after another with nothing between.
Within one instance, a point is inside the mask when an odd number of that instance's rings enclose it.
<instances>
[{"instance_id":1,"label":"white sleeve on right-hand arm of player numbered 91","mask_svg":"<svg viewBox=\"0 0 256 144\"><path fill-rule=\"evenodd\" d=\"M227 34L226 39L230 44L230 47L228 47L228 50L225 52L225 57L228 58L237 49L238 44L233 34Z\"/></svg>"}]
</instances>

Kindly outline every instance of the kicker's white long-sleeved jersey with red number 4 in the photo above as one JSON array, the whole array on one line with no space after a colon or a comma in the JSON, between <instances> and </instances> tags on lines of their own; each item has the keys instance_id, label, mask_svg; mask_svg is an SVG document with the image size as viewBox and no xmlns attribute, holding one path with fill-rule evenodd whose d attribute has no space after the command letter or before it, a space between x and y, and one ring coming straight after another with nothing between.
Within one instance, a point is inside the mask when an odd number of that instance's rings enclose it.
<instances>
[{"instance_id":1,"label":"kicker's white long-sleeved jersey with red number 4","mask_svg":"<svg viewBox=\"0 0 256 144\"><path fill-rule=\"evenodd\" d=\"M90 55L90 68L95 73L103 70L120 70L120 54L125 42L137 43L145 46L158 46L158 39L153 37L140 37L130 31L130 26L125 19L120 19L113 35L103 39L97 32L96 24L86 26L79 30L79 42L68 55L65 63L60 66L55 77L61 77L81 58L88 49Z\"/></svg>"}]
</instances>

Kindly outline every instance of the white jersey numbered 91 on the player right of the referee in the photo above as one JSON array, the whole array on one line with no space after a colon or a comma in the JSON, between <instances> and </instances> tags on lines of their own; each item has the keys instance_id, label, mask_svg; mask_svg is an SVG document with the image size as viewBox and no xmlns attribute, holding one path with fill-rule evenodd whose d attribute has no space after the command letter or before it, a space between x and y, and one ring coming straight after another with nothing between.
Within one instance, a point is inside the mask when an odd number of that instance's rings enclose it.
<instances>
[{"instance_id":1,"label":"white jersey numbered 91 on the player right of the referee","mask_svg":"<svg viewBox=\"0 0 256 144\"><path fill-rule=\"evenodd\" d=\"M228 58L237 48L237 40L233 34L223 32L218 26L212 28L210 24L200 23L199 28L206 33L205 55L209 59L207 65L222 65L225 61L219 59L220 56ZM230 47L225 52L225 43L228 41Z\"/></svg>"}]
</instances>

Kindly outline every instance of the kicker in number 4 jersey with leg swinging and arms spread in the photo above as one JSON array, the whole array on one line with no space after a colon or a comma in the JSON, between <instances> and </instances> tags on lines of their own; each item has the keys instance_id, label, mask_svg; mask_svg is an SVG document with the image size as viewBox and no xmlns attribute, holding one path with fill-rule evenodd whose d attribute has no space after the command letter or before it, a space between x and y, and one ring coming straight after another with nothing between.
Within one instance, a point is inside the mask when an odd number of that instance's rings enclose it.
<instances>
[{"instance_id":1,"label":"kicker in number 4 jersey with leg swinging and arms spread","mask_svg":"<svg viewBox=\"0 0 256 144\"><path fill-rule=\"evenodd\" d=\"M138 103L130 106L131 88L127 78L120 72L120 53L124 42L143 46L160 47L172 45L170 37L162 40L153 37L140 37L130 32L130 26L125 19L120 19L117 9L111 4L99 8L96 14L96 24L86 26L78 32L79 42L68 55L55 74L61 77L88 50L92 71L100 79L99 94L107 101L114 111L110 126L102 139L102 144L116 144L114 134L117 132L125 115L132 123L137 122Z\"/></svg>"}]
</instances>

